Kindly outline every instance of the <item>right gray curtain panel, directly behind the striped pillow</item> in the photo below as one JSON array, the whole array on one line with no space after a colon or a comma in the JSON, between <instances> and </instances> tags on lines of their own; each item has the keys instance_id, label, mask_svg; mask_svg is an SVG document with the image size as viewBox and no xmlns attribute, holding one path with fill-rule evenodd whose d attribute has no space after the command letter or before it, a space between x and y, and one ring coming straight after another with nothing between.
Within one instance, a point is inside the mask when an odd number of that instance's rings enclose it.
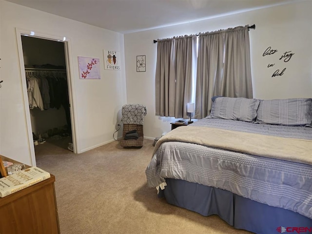
<instances>
[{"instance_id":1,"label":"right gray curtain panel, directly behind the striped pillow","mask_svg":"<svg viewBox=\"0 0 312 234\"><path fill-rule=\"evenodd\" d=\"M248 25L198 40L195 118L210 114L214 96L253 98Z\"/></svg>"}]
</instances>

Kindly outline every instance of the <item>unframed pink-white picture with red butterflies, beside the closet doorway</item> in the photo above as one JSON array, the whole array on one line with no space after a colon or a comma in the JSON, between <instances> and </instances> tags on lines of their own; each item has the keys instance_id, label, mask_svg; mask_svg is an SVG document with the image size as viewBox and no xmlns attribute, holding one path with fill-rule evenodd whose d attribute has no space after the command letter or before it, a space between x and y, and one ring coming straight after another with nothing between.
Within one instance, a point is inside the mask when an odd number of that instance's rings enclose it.
<instances>
[{"instance_id":1,"label":"unframed pink-white picture with red butterflies, beside the closet doorway","mask_svg":"<svg viewBox=\"0 0 312 234\"><path fill-rule=\"evenodd\" d=\"M80 79L100 79L99 59L78 57Z\"/></svg>"}]
</instances>

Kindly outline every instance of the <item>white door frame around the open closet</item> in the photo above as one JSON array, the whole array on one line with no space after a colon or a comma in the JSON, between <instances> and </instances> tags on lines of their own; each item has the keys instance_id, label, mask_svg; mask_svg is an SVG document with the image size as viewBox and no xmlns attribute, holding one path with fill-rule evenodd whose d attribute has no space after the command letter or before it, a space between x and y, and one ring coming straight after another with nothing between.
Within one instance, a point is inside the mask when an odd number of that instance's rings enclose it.
<instances>
[{"instance_id":1,"label":"white door frame around the open closet","mask_svg":"<svg viewBox=\"0 0 312 234\"><path fill-rule=\"evenodd\" d=\"M67 74L67 86L68 86L68 98L70 103L70 116L71 116L71 127L72 127L72 137L73 137L73 146L74 153L78 153L78 136L77 136L77 121L76 121L76 95L75 95L75 85L74 79L72 78L73 72L73 62L72 62L72 51L71 51L71 39L64 36L55 36L47 33L31 31L22 28L15 28L16 30L16 38L18 44L18 55L20 60L20 78L22 84L22 98L24 103L24 118L26 122L27 128L27 140L29 145L29 155L31 159L32 166L36 166L36 156L35 156L35 147L33 143L33 135L32 135L32 126L31 126L31 118L30 118L30 110L29 110L29 102L28 102L28 94L27 94L27 83L26 83L26 75L25 75L25 64L23 57L23 49L22 49L22 41L21 36L28 36L40 39L47 40L55 40L64 42L64 50L65 50L65 62L66 62L66 74Z\"/></svg>"}]
</instances>

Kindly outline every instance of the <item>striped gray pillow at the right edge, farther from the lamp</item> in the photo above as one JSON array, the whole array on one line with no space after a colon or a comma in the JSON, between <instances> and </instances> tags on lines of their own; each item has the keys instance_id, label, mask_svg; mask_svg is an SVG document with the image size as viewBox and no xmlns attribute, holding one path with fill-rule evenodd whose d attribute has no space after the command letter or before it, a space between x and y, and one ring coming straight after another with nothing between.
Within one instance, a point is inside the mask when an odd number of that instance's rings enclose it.
<instances>
[{"instance_id":1,"label":"striped gray pillow at the right edge, farther from the lamp","mask_svg":"<svg viewBox=\"0 0 312 234\"><path fill-rule=\"evenodd\" d=\"M256 123L303 126L312 121L311 98L260 100Z\"/></svg>"}]
</instances>

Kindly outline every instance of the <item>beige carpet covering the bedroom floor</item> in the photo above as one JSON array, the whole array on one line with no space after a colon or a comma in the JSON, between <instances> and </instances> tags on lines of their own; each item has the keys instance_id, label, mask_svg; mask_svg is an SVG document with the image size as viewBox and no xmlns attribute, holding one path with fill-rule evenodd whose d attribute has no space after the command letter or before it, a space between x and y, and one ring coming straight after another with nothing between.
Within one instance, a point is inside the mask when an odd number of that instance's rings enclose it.
<instances>
[{"instance_id":1,"label":"beige carpet covering the bedroom floor","mask_svg":"<svg viewBox=\"0 0 312 234\"><path fill-rule=\"evenodd\" d=\"M68 138L36 146L37 166L56 177L61 234L250 234L157 198L146 185L153 140L140 149L117 141L82 154Z\"/></svg>"}]
</instances>

